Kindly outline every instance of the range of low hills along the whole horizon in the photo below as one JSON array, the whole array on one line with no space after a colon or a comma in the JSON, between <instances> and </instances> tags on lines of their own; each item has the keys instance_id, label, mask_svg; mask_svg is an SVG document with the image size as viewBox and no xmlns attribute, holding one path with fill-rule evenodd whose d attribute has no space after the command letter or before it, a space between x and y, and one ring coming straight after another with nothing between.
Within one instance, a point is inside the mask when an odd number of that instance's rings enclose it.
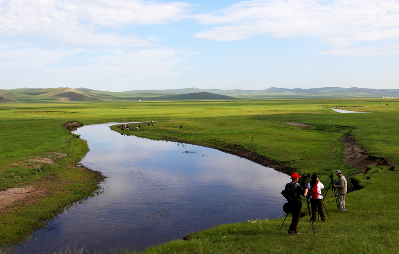
<instances>
[{"instance_id":1,"label":"range of low hills along the whole horizon","mask_svg":"<svg viewBox=\"0 0 399 254\"><path fill-rule=\"evenodd\" d=\"M295 98L382 98L399 97L399 89L324 87L265 90L166 89L125 92L98 91L88 88L18 88L0 90L0 103L51 101L132 101L132 100L233 100Z\"/></svg>"}]
</instances>

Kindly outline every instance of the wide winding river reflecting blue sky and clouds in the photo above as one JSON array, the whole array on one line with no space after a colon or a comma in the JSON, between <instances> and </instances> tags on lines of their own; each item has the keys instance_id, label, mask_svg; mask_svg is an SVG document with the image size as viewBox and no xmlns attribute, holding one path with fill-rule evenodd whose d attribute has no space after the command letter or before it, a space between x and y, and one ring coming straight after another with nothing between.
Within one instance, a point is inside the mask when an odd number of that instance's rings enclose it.
<instances>
[{"instance_id":1,"label":"wide winding river reflecting blue sky and clouds","mask_svg":"<svg viewBox=\"0 0 399 254\"><path fill-rule=\"evenodd\" d=\"M74 131L90 148L81 164L108 177L103 191L59 214L16 253L144 250L218 224L285 215L286 174L215 149L121 135L110 125Z\"/></svg>"}]
</instances>

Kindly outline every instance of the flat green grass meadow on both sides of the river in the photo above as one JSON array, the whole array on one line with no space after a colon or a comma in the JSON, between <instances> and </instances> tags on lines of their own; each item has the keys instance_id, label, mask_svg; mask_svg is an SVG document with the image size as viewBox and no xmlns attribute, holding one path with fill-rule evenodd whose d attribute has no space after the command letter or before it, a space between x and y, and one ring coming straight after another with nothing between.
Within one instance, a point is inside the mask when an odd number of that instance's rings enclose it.
<instances>
[{"instance_id":1,"label":"flat green grass meadow on both sides of the river","mask_svg":"<svg viewBox=\"0 0 399 254\"><path fill-rule=\"evenodd\" d=\"M371 113L342 114L330 109L337 106ZM87 144L63 124L139 121L141 130L133 129L130 134L252 151L269 159L276 169L316 173L326 186L328 175L340 169L364 187L347 194L346 214L334 210L335 199L326 197L331 220L315 224L316 237L307 218L300 222L300 235L295 237L287 234L290 216L282 230L283 219L259 218L254 223L220 225L193 233L190 240L165 243L145 253L396 253L397 172L373 166L365 174L355 173L356 168L342 163L340 138L349 133L367 153L397 165L398 108L398 100L371 98L0 104L0 188L47 185L43 187L47 194L38 195L34 202L22 200L1 210L0 244L26 240L43 220L98 188L101 177L97 172L74 166L87 151ZM154 126L148 127L151 120ZM66 156L40 166L31 161L55 156L55 152ZM71 176L70 172L78 173ZM48 204L54 206L47 209ZM20 225L17 222L23 217L31 221ZM126 249L111 252L130 253Z\"/></svg>"}]
</instances>

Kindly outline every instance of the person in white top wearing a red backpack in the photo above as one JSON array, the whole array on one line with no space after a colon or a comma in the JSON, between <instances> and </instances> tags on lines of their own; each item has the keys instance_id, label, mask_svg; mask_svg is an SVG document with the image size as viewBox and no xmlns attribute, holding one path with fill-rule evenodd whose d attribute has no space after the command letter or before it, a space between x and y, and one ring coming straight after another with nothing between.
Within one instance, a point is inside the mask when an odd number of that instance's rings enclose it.
<instances>
[{"instance_id":1,"label":"person in white top wearing a red backpack","mask_svg":"<svg viewBox=\"0 0 399 254\"><path fill-rule=\"evenodd\" d=\"M323 196L321 195L321 189L324 189L324 185L320 182L320 177L316 174L312 175L312 181L308 183L308 189L310 190L310 204L312 204L312 220L316 221L317 211L321 217L321 221L325 222L326 217L324 216L323 210Z\"/></svg>"}]
</instances>

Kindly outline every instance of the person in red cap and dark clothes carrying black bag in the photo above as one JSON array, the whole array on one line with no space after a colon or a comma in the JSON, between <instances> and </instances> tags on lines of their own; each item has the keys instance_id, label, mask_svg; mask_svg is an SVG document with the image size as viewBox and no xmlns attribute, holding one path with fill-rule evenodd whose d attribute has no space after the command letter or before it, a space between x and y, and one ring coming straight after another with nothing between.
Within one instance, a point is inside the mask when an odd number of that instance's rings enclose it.
<instances>
[{"instance_id":1,"label":"person in red cap and dark clothes carrying black bag","mask_svg":"<svg viewBox=\"0 0 399 254\"><path fill-rule=\"evenodd\" d=\"M301 196L306 197L308 195L308 189L303 190L301 186L298 184L298 180L301 176L298 173L294 172L291 175L292 182L285 185L285 190L291 190L294 192L295 197L297 198L297 202L292 205L291 216L292 221L290 228L288 229L288 233L291 235L298 235L297 226L299 223L299 219L301 218L301 209L302 209L302 198Z\"/></svg>"}]
</instances>

